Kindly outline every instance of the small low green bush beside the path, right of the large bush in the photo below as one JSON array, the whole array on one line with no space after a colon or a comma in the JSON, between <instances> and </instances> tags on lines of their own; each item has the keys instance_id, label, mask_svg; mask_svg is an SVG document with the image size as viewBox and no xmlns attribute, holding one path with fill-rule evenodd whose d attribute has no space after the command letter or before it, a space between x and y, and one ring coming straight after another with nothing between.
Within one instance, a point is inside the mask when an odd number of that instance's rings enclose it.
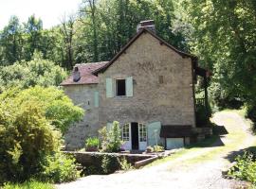
<instances>
[{"instance_id":1,"label":"small low green bush beside the path, right of the large bush","mask_svg":"<svg viewBox=\"0 0 256 189\"><path fill-rule=\"evenodd\" d=\"M75 159L62 152L46 156L43 164L43 171L38 178L47 182L61 183L77 180L81 174L81 171L77 170L78 164L75 163Z\"/></svg>"}]
</instances>

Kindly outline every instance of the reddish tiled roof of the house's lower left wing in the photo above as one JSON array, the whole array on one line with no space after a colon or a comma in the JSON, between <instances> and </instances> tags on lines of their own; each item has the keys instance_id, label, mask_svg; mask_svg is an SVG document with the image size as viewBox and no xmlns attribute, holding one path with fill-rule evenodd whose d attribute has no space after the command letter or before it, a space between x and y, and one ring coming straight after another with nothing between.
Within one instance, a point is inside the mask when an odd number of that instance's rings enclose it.
<instances>
[{"instance_id":1,"label":"reddish tiled roof of the house's lower left wing","mask_svg":"<svg viewBox=\"0 0 256 189\"><path fill-rule=\"evenodd\" d=\"M95 70L103 67L108 61L92 62L92 63L81 63L76 64L78 67L81 78L79 81L75 82L73 80L73 74L67 77L62 83L62 86L66 85L84 85L84 84L97 84L99 83L99 78L92 74Z\"/></svg>"}]
</instances>

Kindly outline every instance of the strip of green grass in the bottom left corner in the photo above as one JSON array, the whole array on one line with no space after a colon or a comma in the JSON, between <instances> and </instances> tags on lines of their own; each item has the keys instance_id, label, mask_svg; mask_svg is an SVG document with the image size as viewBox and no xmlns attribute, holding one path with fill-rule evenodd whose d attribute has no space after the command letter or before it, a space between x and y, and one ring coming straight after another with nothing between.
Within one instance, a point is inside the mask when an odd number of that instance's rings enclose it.
<instances>
[{"instance_id":1,"label":"strip of green grass in the bottom left corner","mask_svg":"<svg viewBox=\"0 0 256 189\"><path fill-rule=\"evenodd\" d=\"M55 187L50 183L39 181L26 181L24 183L7 183L2 189L54 189Z\"/></svg>"}]
</instances>

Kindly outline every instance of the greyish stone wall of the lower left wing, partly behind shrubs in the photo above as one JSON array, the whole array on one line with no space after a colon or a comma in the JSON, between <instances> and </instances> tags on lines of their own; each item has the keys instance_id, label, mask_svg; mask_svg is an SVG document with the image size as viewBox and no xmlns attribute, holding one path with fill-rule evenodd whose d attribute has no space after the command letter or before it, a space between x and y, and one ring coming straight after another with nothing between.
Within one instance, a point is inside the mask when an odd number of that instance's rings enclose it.
<instances>
[{"instance_id":1,"label":"greyish stone wall of the lower left wing, partly behind shrubs","mask_svg":"<svg viewBox=\"0 0 256 189\"><path fill-rule=\"evenodd\" d=\"M97 136L99 125L99 108L94 104L94 92L98 91L97 84L70 85L64 87L64 92L74 102L85 110L82 121L74 124L65 134L66 149L77 149L84 146L84 140Z\"/></svg>"}]
</instances>

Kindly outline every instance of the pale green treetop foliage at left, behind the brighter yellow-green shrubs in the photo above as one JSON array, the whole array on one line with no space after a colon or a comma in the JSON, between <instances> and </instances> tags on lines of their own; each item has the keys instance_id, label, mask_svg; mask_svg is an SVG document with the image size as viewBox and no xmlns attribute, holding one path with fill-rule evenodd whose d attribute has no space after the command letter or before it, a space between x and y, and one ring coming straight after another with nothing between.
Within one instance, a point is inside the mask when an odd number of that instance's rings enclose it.
<instances>
[{"instance_id":1,"label":"pale green treetop foliage at left, behind the brighter yellow-green shrubs","mask_svg":"<svg viewBox=\"0 0 256 189\"><path fill-rule=\"evenodd\" d=\"M35 85L58 86L66 76L64 69L53 61L43 60L41 55L35 55L33 60L0 67L0 91L10 87L27 89Z\"/></svg>"}]
</instances>

